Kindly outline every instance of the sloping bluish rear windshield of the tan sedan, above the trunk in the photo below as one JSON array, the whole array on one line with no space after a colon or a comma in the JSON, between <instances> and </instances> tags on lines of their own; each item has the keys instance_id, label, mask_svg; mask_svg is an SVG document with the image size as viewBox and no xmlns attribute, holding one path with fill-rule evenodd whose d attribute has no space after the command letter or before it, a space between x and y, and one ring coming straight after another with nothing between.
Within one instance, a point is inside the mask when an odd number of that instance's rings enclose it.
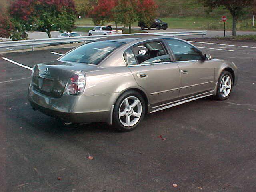
<instances>
[{"instance_id":1,"label":"sloping bluish rear windshield of the tan sedan, above the trunk","mask_svg":"<svg viewBox=\"0 0 256 192\"><path fill-rule=\"evenodd\" d=\"M115 41L90 42L72 50L63 56L61 60L98 65L104 58L122 44L124 43Z\"/></svg>"}]
</instances>

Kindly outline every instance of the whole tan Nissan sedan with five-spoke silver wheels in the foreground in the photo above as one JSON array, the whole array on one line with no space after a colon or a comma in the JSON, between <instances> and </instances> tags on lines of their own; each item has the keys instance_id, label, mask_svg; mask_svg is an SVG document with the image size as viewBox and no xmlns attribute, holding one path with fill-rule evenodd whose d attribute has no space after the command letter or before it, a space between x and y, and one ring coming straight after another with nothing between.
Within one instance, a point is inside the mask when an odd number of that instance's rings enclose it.
<instances>
[{"instance_id":1,"label":"whole tan Nissan sedan with five-spoke silver wheels in the foreground","mask_svg":"<svg viewBox=\"0 0 256 192\"><path fill-rule=\"evenodd\" d=\"M145 114L207 96L226 100L237 79L233 62L181 39L98 40L35 65L28 99L64 122L106 122L125 132Z\"/></svg>"}]
</instances>

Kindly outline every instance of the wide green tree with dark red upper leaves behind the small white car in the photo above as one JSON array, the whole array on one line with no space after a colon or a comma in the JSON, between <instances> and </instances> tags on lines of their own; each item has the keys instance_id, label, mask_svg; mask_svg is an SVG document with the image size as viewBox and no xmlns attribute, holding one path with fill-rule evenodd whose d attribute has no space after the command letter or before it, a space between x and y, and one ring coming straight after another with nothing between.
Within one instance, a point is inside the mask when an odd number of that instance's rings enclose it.
<instances>
[{"instance_id":1,"label":"wide green tree with dark red upper leaves behind the small white car","mask_svg":"<svg viewBox=\"0 0 256 192\"><path fill-rule=\"evenodd\" d=\"M73 0L15 0L10 15L27 31L42 28L51 38L53 29L71 31L74 28Z\"/></svg>"}]
</instances>

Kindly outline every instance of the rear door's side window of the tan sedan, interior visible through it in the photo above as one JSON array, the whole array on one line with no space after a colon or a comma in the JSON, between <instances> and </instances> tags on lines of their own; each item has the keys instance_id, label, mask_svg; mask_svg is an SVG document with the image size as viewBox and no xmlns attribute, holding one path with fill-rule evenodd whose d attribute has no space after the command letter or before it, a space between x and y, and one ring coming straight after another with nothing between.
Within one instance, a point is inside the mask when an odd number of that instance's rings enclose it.
<instances>
[{"instance_id":1,"label":"rear door's side window of the tan sedan, interior visible through it","mask_svg":"<svg viewBox=\"0 0 256 192\"><path fill-rule=\"evenodd\" d=\"M129 57L129 58L128 58ZM127 64L153 64L170 62L171 58L167 54L162 42L148 42L140 44L126 51Z\"/></svg>"}]
</instances>

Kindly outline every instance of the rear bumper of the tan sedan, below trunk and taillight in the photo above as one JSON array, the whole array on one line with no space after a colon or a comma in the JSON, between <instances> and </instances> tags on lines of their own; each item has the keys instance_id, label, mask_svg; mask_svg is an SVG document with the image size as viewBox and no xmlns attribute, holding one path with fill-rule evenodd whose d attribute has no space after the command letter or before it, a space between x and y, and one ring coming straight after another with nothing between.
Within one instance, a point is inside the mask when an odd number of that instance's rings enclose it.
<instances>
[{"instance_id":1,"label":"rear bumper of the tan sedan, below trunk and taillight","mask_svg":"<svg viewBox=\"0 0 256 192\"><path fill-rule=\"evenodd\" d=\"M28 90L28 100L32 108L53 118L72 123L106 122L111 124L116 95L63 95L61 98L52 98L31 87Z\"/></svg>"}]
</instances>

